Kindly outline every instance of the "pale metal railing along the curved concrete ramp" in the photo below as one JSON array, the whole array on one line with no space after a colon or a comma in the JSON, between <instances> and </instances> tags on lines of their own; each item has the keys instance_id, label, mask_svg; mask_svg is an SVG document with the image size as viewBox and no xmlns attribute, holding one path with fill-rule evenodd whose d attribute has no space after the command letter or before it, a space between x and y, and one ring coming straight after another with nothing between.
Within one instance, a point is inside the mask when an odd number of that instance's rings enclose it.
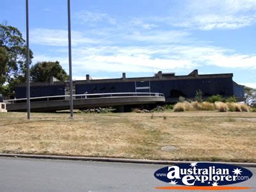
<instances>
[{"instance_id":1,"label":"pale metal railing along the curved concrete ramp","mask_svg":"<svg viewBox=\"0 0 256 192\"><path fill-rule=\"evenodd\" d=\"M114 96L113 96L114 95ZM86 93L86 94L77 94L73 95L73 99L90 99L90 98L100 98L100 97L164 97L163 93L143 93L143 92L124 92L124 93ZM30 100L42 101L42 100L52 100L52 98L57 98L55 100L67 100L70 95L54 95L54 96L44 96L44 97L30 97ZM58 99L60 98L60 99ZM61 99L64 98L64 99ZM7 103L15 103L17 101L27 100L27 98L21 99L9 99L5 100Z\"/></svg>"}]
</instances>

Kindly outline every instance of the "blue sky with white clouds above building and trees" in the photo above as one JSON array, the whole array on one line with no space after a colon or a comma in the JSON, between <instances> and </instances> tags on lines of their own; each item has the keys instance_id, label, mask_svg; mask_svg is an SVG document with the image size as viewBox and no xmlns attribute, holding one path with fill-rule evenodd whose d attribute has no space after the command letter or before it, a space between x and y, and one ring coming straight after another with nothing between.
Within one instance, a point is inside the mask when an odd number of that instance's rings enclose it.
<instances>
[{"instance_id":1,"label":"blue sky with white clouds above building and trees","mask_svg":"<svg viewBox=\"0 0 256 192\"><path fill-rule=\"evenodd\" d=\"M93 79L233 73L256 88L256 0L70 0L72 76ZM26 38L25 0L1 0L0 21ZM29 0L33 63L68 73L66 0Z\"/></svg>"}]
</instances>

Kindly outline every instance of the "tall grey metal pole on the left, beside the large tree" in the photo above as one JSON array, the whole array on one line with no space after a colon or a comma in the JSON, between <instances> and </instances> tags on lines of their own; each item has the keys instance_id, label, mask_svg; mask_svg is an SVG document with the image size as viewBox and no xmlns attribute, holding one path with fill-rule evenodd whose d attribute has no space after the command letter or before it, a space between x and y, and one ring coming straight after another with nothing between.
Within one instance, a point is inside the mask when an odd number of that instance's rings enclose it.
<instances>
[{"instance_id":1,"label":"tall grey metal pole on the left, beside the large tree","mask_svg":"<svg viewBox=\"0 0 256 192\"><path fill-rule=\"evenodd\" d=\"M29 14L28 0L26 0L26 78L27 78L27 113L30 119L30 77L29 77Z\"/></svg>"}]
</instances>

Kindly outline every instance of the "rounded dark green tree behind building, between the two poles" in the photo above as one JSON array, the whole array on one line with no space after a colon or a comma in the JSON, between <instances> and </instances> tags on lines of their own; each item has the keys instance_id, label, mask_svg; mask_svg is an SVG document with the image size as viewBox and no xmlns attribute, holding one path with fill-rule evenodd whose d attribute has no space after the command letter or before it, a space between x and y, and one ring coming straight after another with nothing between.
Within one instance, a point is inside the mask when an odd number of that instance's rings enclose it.
<instances>
[{"instance_id":1,"label":"rounded dark green tree behind building, between the two poles","mask_svg":"<svg viewBox=\"0 0 256 192\"><path fill-rule=\"evenodd\" d=\"M61 67L59 61L36 63L31 67L30 76L33 82L49 82L51 76L56 77L60 81L68 80L68 75Z\"/></svg>"}]
</instances>

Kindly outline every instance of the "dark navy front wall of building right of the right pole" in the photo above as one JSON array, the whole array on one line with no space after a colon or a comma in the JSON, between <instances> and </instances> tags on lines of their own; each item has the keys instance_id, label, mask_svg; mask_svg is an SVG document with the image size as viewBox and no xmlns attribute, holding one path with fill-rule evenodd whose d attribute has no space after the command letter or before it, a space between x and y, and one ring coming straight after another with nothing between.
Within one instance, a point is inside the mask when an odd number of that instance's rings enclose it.
<instances>
[{"instance_id":1,"label":"dark navy front wall of building right of the right pole","mask_svg":"<svg viewBox=\"0 0 256 192\"><path fill-rule=\"evenodd\" d=\"M201 90L203 96L209 95L234 95L232 77L205 78L205 79L180 79L163 81L137 81L136 87L147 87L150 92L164 93L166 98L195 97L196 90ZM136 92L135 82L116 83L80 83L76 84L76 94L88 93L117 93ZM137 92L149 92L148 89Z\"/></svg>"}]
</instances>

